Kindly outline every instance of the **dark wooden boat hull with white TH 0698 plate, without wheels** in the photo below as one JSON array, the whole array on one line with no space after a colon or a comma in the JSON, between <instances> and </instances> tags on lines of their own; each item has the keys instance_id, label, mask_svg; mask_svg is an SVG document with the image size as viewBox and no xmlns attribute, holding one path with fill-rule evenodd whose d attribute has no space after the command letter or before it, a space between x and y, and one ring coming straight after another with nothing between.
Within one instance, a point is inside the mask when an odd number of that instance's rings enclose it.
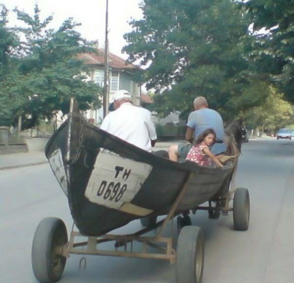
<instances>
[{"instance_id":1,"label":"dark wooden boat hull with white TH 0698 plate, without wheels","mask_svg":"<svg viewBox=\"0 0 294 283\"><path fill-rule=\"evenodd\" d=\"M87 236L167 214L191 172L196 174L176 214L225 194L238 159L221 169L172 162L86 122L73 100L68 120L51 136L45 152L68 196L75 225Z\"/></svg>"}]
</instances>

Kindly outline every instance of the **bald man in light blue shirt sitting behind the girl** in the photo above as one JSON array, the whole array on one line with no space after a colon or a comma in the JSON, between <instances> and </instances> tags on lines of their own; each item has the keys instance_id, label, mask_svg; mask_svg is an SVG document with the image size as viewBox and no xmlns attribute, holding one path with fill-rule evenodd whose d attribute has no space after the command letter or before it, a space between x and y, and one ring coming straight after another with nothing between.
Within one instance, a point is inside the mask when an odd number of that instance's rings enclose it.
<instances>
[{"instance_id":1,"label":"bald man in light blue shirt sitting behind the girl","mask_svg":"<svg viewBox=\"0 0 294 283\"><path fill-rule=\"evenodd\" d=\"M172 145L169 148L169 157L173 161L178 161L179 158L186 158L194 138L206 129L212 128L217 134L216 143L210 148L210 151L217 155L226 150L226 145L223 143L224 129L221 115L217 111L208 108L207 100L203 96L195 98L194 109L195 111L191 112L188 117L185 134L185 139L190 144Z\"/></svg>"}]
</instances>

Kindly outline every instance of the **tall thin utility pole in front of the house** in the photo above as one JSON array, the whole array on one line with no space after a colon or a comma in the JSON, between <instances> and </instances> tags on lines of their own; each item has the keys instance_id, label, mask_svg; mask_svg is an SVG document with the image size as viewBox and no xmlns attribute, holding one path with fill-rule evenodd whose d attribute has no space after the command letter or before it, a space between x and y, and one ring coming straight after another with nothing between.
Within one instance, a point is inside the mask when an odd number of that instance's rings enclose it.
<instances>
[{"instance_id":1,"label":"tall thin utility pole in front of the house","mask_svg":"<svg viewBox=\"0 0 294 283\"><path fill-rule=\"evenodd\" d=\"M109 108L109 48L108 48L108 0L106 0L103 117L105 117L108 114L108 108Z\"/></svg>"}]
</instances>

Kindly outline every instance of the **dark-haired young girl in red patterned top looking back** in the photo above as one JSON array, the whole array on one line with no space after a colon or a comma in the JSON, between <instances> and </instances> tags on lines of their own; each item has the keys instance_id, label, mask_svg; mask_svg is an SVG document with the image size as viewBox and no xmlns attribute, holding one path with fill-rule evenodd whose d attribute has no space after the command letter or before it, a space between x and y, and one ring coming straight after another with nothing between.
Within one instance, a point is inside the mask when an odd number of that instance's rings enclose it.
<instances>
[{"instance_id":1,"label":"dark-haired young girl in red patterned top looking back","mask_svg":"<svg viewBox=\"0 0 294 283\"><path fill-rule=\"evenodd\" d=\"M213 129L203 131L196 139L195 145L188 152L186 159L196 162L201 166L211 165L213 160L217 166L223 167L220 160L209 150L216 139L216 132Z\"/></svg>"}]
</instances>

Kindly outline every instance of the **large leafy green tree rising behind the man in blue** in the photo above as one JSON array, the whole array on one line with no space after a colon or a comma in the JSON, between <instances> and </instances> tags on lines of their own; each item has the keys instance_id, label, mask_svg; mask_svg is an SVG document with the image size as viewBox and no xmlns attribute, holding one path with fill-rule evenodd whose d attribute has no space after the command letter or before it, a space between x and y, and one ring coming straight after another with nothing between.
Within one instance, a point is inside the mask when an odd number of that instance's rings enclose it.
<instances>
[{"instance_id":1,"label":"large leafy green tree rising behind the man in blue","mask_svg":"<svg viewBox=\"0 0 294 283\"><path fill-rule=\"evenodd\" d=\"M248 71L244 52L251 37L240 3L145 0L141 8L144 18L131 22L123 50L146 68L141 81L160 94L154 97L158 112L190 111L195 96L203 95L231 119L266 98L264 83Z\"/></svg>"}]
</instances>

